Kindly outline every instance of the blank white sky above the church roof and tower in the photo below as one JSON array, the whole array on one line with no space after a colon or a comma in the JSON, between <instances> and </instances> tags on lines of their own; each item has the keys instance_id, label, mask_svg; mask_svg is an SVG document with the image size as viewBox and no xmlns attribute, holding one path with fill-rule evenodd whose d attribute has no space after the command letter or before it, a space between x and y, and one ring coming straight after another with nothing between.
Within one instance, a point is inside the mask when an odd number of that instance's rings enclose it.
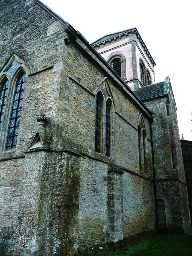
<instances>
[{"instance_id":1,"label":"blank white sky above the church roof and tower","mask_svg":"<svg viewBox=\"0 0 192 256\"><path fill-rule=\"evenodd\" d=\"M192 140L192 47L190 0L42 0L92 43L136 27L152 58L157 82L170 77L178 124Z\"/></svg>"}]
</instances>

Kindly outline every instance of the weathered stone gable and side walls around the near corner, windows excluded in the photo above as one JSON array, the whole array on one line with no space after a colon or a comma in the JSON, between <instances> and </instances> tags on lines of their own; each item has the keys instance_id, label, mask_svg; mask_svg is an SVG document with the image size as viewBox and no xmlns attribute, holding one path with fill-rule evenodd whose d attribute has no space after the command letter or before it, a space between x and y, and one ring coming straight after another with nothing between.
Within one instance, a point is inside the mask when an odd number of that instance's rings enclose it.
<instances>
[{"instance_id":1,"label":"weathered stone gable and side walls around the near corner, windows excluded","mask_svg":"<svg viewBox=\"0 0 192 256\"><path fill-rule=\"evenodd\" d=\"M0 79L6 76L12 84L0 133L2 253L75 255L155 231L151 112L75 31L70 37L71 27L41 5L0 2ZM17 146L5 150L16 79L6 71L13 56L27 80ZM111 100L110 157L104 151L104 86ZM101 153L94 150L98 92ZM139 166L140 120L146 173Z\"/></svg>"}]
</instances>

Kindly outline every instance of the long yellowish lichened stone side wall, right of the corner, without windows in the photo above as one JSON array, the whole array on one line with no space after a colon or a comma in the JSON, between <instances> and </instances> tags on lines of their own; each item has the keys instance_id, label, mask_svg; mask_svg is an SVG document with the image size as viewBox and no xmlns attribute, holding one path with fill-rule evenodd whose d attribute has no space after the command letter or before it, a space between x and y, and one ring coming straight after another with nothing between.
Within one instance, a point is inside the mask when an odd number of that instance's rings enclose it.
<instances>
[{"instance_id":1,"label":"long yellowish lichened stone side wall, right of the corner, without windows","mask_svg":"<svg viewBox=\"0 0 192 256\"><path fill-rule=\"evenodd\" d=\"M149 116L144 110L138 109L131 101L130 96L126 92L122 92L118 83L108 76L102 67L97 66L95 60L83 52L77 44L71 43L67 48L66 74L62 78L65 86L60 87L60 94L63 96L60 100L63 104L59 106L61 111L57 120L61 129L64 127L60 134L63 134L66 140L72 141L83 156L80 171L82 178L80 179L78 248L85 250L91 245L116 241L123 236L154 230L151 136ZM106 76L108 93L112 99L113 136L110 158L94 151L95 96ZM80 95L84 95L84 97L81 98ZM147 134L148 174L140 172L138 163L137 129L141 112ZM124 172L121 174L123 218L119 213L114 212L113 207L109 211L109 200L120 196L112 194L111 188L115 185L111 183L114 177L108 173L110 162L118 165ZM116 186L118 187L117 191L120 191L119 176L118 179L119 182L117 181ZM130 179L132 185L130 185ZM134 182L138 184L137 193ZM135 193L139 197L137 203L134 204L137 214L134 218L130 218L133 206L128 202L131 198L130 195ZM115 199L113 200L115 201ZM119 209L118 212L120 212L121 203L116 202L115 209ZM144 210L146 205L147 210ZM140 210L141 208L143 210ZM116 214L119 218L115 217ZM113 219L116 219L115 223L113 223ZM143 225L143 220L145 220L145 225Z\"/></svg>"}]
</instances>

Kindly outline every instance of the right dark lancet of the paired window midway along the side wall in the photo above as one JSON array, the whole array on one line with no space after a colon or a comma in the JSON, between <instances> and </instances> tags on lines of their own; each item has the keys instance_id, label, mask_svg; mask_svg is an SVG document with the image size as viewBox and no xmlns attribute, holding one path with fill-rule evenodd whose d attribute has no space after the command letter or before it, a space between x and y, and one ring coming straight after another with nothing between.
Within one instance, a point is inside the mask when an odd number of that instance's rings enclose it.
<instances>
[{"instance_id":1,"label":"right dark lancet of the paired window midway along the side wall","mask_svg":"<svg viewBox=\"0 0 192 256\"><path fill-rule=\"evenodd\" d=\"M110 156L110 103L109 100L106 102L106 134L105 134L105 152L106 156Z\"/></svg>"}]
</instances>

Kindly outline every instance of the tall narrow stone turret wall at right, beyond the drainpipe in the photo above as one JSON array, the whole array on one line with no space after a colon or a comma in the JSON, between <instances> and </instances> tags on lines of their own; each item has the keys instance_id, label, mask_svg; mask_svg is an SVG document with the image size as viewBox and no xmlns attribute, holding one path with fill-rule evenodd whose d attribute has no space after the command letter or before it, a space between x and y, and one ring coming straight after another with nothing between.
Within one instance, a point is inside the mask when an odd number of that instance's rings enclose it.
<instances>
[{"instance_id":1,"label":"tall narrow stone turret wall at right, beyond the drainpipe","mask_svg":"<svg viewBox=\"0 0 192 256\"><path fill-rule=\"evenodd\" d=\"M186 233L191 228L187 188L176 105L168 78L165 80L165 88L168 88L168 94L144 100L146 106L154 113L152 139L157 199L164 200L168 232ZM170 116L167 115L166 105L170 107ZM171 146L174 147L176 168L173 168ZM185 216L184 222L183 216Z\"/></svg>"}]
</instances>

